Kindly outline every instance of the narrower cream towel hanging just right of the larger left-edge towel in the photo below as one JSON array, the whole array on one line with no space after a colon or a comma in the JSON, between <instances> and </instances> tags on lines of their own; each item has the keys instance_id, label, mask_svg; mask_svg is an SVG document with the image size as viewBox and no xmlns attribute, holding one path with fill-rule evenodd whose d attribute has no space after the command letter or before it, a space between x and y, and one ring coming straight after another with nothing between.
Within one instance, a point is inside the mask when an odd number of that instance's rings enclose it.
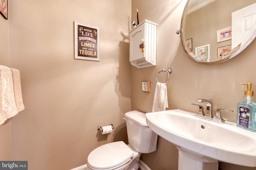
<instances>
[{"instance_id":1,"label":"narrower cream towel hanging just right of the larger left-edge towel","mask_svg":"<svg viewBox=\"0 0 256 170\"><path fill-rule=\"evenodd\" d=\"M22 99L22 92L21 92L21 83L20 83L20 70L15 68L11 68L12 70L12 82L13 82L13 91L14 91L14 98L15 103L18 109L18 112L25 109Z\"/></svg>"}]
</instances>

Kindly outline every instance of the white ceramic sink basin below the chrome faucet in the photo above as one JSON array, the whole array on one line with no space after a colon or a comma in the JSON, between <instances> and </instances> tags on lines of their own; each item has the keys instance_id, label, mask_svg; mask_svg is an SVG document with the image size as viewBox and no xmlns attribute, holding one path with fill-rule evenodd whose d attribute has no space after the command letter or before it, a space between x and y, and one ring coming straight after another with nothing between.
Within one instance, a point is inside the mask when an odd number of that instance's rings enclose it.
<instances>
[{"instance_id":1,"label":"white ceramic sink basin below the chrome faucet","mask_svg":"<svg viewBox=\"0 0 256 170\"><path fill-rule=\"evenodd\" d=\"M195 117L180 109L146 113L148 126L170 143L199 156L256 167L256 133L236 124Z\"/></svg>"}]
</instances>

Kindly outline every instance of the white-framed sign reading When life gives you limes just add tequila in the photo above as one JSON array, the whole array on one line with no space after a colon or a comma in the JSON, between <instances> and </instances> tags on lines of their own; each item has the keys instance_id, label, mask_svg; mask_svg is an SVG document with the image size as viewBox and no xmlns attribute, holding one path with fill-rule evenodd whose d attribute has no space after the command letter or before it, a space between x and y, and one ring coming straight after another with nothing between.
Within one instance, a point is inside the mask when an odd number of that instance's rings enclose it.
<instances>
[{"instance_id":1,"label":"white-framed sign reading When life gives you limes just add tequila","mask_svg":"<svg viewBox=\"0 0 256 170\"><path fill-rule=\"evenodd\" d=\"M100 27L74 22L75 59L100 61Z\"/></svg>"}]
</instances>

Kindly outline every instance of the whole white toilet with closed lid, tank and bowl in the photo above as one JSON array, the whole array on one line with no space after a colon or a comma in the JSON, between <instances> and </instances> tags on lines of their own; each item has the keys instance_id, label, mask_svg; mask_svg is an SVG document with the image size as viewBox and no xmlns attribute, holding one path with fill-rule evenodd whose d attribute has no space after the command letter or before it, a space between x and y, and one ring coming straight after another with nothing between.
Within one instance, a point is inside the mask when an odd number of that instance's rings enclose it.
<instances>
[{"instance_id":1,"label":"whole white toilet with closed lid, tank and bowl","mask_svg":"<svg viewBox=\"0 0 256 170\"><path fill-rule=\"evenodd\" d=\"M89 170L138 170L141 153L156 150L158 135L148 127L145 113L134 110L124 117L129 144L118 141L92 150L87 158Z\"/></svg>"}]
</instances>

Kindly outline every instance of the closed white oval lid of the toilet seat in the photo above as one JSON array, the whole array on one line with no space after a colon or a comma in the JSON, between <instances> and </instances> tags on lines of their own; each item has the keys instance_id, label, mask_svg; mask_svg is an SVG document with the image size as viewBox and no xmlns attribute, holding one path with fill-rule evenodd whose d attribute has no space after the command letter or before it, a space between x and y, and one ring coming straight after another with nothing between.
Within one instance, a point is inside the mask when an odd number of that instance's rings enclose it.
<instances>
[{"instance_id":1,"label":"closed white oval lid of the toilet seat","mask_svg":"<svg viewBox=\"0 0 256 170\"><path fill-rule=\"evenodd\" d=\"M116 166L129 162L133 156L133 151L123 141L112 142L92 150L87 164L95 169L118 168Z\"/></svg>"}]
</instances>

